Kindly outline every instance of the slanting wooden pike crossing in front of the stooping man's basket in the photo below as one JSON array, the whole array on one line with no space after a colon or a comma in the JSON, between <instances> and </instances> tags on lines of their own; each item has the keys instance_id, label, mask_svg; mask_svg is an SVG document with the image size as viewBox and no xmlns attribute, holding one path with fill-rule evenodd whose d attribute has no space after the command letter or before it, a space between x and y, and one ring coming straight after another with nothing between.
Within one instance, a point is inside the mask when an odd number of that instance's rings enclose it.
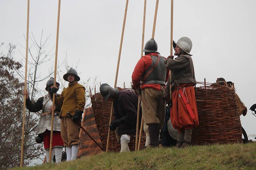
<instances>
[{"instance_id":1,"label":"slanting wooden pike crossing in front of the stooping man's basket","mask_svg":"<svg viewBox=\"0 0 256 170\"><path fill-rule=\"evenodd\" d=\"M124 11L123 29L122 29L121 41L120 41L120 46L119 46L119 54L118 54L118 60L117 60L117 66L116 66L116 79L115 79L114 88L116 88L118 71L119 71L119 64L120 64L121 51L122 51L122 45L123 45L123 39L124 39L124 27L125 27L126 15L127 15L128 2L129 2L129 0L126 0L125 11ZM112 106L111 106L109 125L112 121L112 114L113 114L113 103L112 103ZM106 152L108 152L109 137L110 137L110 129L108 127L108 139L107 139Z\"/></svg>"}]
</instances>

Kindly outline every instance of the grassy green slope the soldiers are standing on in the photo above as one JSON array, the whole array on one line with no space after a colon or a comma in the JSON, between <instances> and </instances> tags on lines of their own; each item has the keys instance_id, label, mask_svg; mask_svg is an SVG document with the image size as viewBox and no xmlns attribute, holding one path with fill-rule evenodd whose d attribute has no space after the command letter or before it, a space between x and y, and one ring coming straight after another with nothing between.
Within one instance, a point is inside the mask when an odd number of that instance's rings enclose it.
<instances>
[{"instance_id":1,"label":"grassy green slope the soldiers are standing on","mask_svg":"<svg viewBox=\"0 0 256 170\"><path fill-rule=\"evenodd\" d=\"M16 169L256 169L256 143L147 148L139 152L101 153L60 164Z\"/></svg>"}]
</instances>

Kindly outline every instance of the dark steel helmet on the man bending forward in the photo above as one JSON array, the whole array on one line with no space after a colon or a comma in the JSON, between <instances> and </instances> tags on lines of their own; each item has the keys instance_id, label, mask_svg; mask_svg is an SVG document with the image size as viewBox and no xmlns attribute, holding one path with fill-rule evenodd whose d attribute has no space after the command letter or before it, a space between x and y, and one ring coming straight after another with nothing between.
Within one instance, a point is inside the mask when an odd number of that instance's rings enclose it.
<instances>
[{"instance_id":1,"label":"dark steel helmet on the man bending forward","mask_svg":"<svg viewBox=\"0 0 256 170\"><path fill-rule=\"evenodd\" d=\"M104 83L100 85L100 94L103 97L104 101L108 100L109 96L115 100L118 95L118 89L114 89L107 83Z\"/></svg>"}]
</instances>

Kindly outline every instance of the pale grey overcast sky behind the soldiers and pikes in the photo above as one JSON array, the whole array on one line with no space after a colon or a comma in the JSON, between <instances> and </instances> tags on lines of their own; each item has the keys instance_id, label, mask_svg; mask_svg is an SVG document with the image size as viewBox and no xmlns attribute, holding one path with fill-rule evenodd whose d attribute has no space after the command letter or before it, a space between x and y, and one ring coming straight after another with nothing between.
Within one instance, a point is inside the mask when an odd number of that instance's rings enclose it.
<instances>
[{"instance_id":1,"label":"pale grey overcast sky behind the soldiers and pikes","mask_svg":"<svg viewBox=\"0 0 256 170\"><path fill-rule=\"evenodd\" d=\"M114 86L125 0L62 0L58 60L76 66L81 81L97 81ZM156 0L147 1L145 42L151 38ZM235 82L237 94L248 112L241 116L247 134L256 133L256 117L249 110L256 103L255 88L255 0L174 0L173 39L187 36L197 81L215 82L217 77ZM130 0L124 31L117 86L130 86L131 75L140 59L143 0ZM46 48L55 52L58 0L31 0L29 36L39 41L51 35ZM17 45L15 59L25 55L27 26L26 0L0 1L0 43ZM23 35L24 34L24 35ZM160 0L155 40L162 56L170 55L170 0ZM22 46L20 46L19 44ZM29 40L29 45L31 45ZM6 47L6 46L5 46ZM0 51L6 52L5 47ZM30 58L31 60L31 58ZM52 66L40 68L43 77ZM24 69L24 67L23 67ZM65 67L61 69L65 72ZM45 82L39 84L45 87ZM99 87L98 87L99 88Z\"/></svg>"}]
</instances>

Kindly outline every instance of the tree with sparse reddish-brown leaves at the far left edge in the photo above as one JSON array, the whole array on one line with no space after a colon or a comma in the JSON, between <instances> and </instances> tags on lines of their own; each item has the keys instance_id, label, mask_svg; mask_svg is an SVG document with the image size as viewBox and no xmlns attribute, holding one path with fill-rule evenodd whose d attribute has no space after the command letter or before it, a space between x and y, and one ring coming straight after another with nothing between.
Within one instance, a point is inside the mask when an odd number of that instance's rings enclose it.
<instances>
[{"instance_id":1,"label":"tree with sparse reddish-brown leaves at the far left edge","mask_svg":"<svg viewBox=\"0 0 256 170\"><path fill-rule=\"evenodd\" d=\"M2 44L3 45L3 44ZM22 113L24 83L17 77L17 71L22 64L13 59L16 46L9 44L7 54L0 55L0 168L9 168L20 165L20 148L22 132ZM29 160L39 158L42 148L36 145L35 118L26 116L25 132L25 165Z\"/></svg>"}]
</instances>

